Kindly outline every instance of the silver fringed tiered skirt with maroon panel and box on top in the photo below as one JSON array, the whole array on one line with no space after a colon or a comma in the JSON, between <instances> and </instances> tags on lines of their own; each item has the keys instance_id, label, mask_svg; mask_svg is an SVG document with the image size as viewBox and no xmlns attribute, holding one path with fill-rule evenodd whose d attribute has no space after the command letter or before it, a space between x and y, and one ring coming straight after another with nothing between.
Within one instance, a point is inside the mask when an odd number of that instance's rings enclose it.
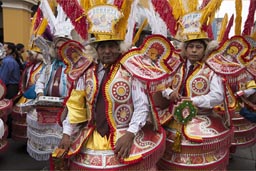
<instances>
[{"instance_id":1,"label":"silver fringed tiered skirt with maroon panel and box on top","mask_svg":"<svg viewBox=\"0 0 256 171\"><path fill-rule=\"evenodd\" d=\"M48 160L62 138L62 127L57 122L62 103L62 98L41 96L27 113L27 151L36 160Z\"/></svg>"}]
</instances>

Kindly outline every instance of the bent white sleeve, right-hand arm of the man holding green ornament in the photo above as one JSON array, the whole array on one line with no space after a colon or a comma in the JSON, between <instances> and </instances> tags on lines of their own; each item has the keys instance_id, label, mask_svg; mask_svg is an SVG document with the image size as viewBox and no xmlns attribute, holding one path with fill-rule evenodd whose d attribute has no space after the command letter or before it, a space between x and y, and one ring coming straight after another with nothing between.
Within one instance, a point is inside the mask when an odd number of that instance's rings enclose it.
<instances>
[{"instance_id":1,"label":"bent white sleeve, right-hand arm of the man holding green ornament","mask_svg":"<svg viewBox=\"0 0 256 171\"><path fill-rule=\"evenodd\" d=\"M213 108L223 102L224 89L221 77L215 73L210 82L210 91L206 95L192 97L191 100L197 107Z\"/></svg>"}]
</instances>

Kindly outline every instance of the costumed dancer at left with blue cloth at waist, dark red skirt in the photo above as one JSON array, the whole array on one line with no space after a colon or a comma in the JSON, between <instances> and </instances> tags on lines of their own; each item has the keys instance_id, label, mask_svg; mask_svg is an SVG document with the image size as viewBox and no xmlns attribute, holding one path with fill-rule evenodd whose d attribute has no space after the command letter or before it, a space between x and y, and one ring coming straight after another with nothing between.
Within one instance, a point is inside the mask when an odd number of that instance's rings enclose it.
<instances>
[{"instance_id":1,"label":"costumed dancer at left with blue cloth at waist, dark red skirt","mask_svg":"<svg viewBox=\"0 0 256 171\"><path fill-rule=\"evenodd\" d=\"M43 47L42 44L47 44L46 42L48 40L45 40L43 37L52 40L52 35L47 29L48 26L47 20L43 18L41 10L38 9L31 23L30 42L28 44L29 50L27 50L28 58L20 83L20 98L17 98L12 111L12 138L22 142L27 142L26 118L27 113L33 111L34 106L32 105L36 99L35 84L44 66L47 64L45 58L49 54L49 48L47 48L49 45ZM38 43L39 38L42 38L40 39L40 43ZM22 53L24 46L17 44L17 49Z\"/></svg>"}]
</instances>

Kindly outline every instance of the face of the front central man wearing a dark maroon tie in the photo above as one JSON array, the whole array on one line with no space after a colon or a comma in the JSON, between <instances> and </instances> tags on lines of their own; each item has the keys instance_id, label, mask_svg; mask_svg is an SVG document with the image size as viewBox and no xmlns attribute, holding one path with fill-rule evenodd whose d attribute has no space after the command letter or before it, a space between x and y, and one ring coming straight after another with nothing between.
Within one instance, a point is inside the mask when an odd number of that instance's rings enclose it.
<instances>
[{"instance_id":1,"label":"face of the front central man wearing a dark maroon tie","mask_svg":"<svg viewBox=\"0 0 256 171\"><path fill-rule=\"evenodd\" d=\"M100 42L97 47L99 60L102 64L114 64L120 56L120 47L117 41Z\"/></svg>"}]
</instances>

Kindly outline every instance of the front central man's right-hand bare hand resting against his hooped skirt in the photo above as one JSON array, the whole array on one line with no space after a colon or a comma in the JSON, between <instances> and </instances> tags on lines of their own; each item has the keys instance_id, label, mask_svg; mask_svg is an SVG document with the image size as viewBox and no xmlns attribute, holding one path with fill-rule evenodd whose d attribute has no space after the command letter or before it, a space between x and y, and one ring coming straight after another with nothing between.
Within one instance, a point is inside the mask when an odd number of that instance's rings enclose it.
<instances>
[{"instance_id":1,"label":"front central man's right-hand bare hand resting against his hooped skirt","mask_svg":"<svg viewBox=\"0 0 256 171\"><path fill-rule=\"evenodd\" d=\"M116 142L115 154L117 158L127 158L130 155L133 139L135 135L129 131L127 131L122 137L120 137Z\"/></svg>"}]
</instances>

